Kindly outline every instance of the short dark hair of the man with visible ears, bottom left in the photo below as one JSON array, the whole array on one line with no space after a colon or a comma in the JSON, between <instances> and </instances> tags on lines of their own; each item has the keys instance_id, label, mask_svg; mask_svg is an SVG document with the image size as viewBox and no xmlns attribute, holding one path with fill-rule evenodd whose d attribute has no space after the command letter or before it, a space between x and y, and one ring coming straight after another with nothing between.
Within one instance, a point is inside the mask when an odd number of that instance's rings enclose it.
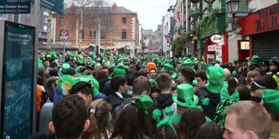
<instances>
[{"instance_id":1,"label":"short dark hair of the man with visible ears, bottom left","mask_svg":"<svg viewBox=\"0 0 279 139\"><path fill-rule=\"evenodd\" d=\"M52 122L56 138L79 138L87 120L87 108L82 97L70 95L56 103Z\"/></svg>"}]
</instances>

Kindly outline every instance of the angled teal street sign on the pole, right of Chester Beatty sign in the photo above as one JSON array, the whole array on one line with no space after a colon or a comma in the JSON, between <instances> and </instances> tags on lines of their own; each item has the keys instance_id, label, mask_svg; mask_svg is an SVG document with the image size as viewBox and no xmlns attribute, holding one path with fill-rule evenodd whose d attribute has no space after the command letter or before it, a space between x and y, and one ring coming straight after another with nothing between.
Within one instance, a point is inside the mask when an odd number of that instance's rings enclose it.
<instances>
[{"instance_id":1,"label":"angled teal street sign on the pole, right of Chester Beatty sign","mask_svg":"<svg viewBox=\"0 0 279 139\"><path fill-rule=\"evenodd\" d=\"M34 3L34 0L29 0ZM64 0L40 0L41 7L63 14Z\"/></svg>"}]
</instances>

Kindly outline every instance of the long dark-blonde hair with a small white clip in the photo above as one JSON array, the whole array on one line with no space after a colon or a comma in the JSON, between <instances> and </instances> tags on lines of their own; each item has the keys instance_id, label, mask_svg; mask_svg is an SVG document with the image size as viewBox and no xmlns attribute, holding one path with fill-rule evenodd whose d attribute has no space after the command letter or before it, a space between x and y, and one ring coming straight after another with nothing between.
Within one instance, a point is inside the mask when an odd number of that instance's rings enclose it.
<instances>
[{"instance_id":1,"label":"long dark-blonde hair with a small white clip","mask_svg":"<svg viewBox=\"0 0 279 139\"><path fill-rule=\"evenodd\" d=\"M107 130L113 131L109 123L110 105L104 99L94 100L88 107L88 119L90 126L85 132L87 138L105 138L108 139Z\"/></svg>"}]
</instances>

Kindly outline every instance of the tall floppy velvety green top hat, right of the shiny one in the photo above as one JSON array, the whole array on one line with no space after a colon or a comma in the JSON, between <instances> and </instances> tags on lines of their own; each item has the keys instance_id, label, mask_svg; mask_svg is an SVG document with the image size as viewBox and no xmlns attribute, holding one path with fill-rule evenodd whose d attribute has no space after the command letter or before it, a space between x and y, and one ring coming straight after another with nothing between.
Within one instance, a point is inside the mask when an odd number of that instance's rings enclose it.
<instances>
[{"instance_id":1,"label":"tall floppy velvety green top hat, right of the shiny one","mask_svg":"<svg viewBox=\"0 0 279 139\"><path fill-rule=\"evenodd\" d=\"M224 81L225 73L223 68L219 66L211 66L206 69L206 76L209 81L205 87L211 93L221 93L221 91L226 91L228 88L228 83Z\"/></svg>"}]
</instances>

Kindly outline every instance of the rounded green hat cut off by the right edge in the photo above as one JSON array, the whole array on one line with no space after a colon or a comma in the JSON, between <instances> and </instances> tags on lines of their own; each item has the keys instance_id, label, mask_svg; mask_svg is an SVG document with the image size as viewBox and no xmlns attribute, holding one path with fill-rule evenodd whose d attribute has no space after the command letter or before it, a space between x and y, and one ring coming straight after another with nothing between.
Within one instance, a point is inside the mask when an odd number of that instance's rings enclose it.
<instances>
[{"instance_id":1,"label":"rounded green hat cut off by the right edge","mask_svg":"<svg viewBox=\"0 0 279 139\"><path fill-rule=\"evenodd\" d=\"M279 91L266 89L261 95L265 105L279 115Z\"/></svg>"}]
</instances>

